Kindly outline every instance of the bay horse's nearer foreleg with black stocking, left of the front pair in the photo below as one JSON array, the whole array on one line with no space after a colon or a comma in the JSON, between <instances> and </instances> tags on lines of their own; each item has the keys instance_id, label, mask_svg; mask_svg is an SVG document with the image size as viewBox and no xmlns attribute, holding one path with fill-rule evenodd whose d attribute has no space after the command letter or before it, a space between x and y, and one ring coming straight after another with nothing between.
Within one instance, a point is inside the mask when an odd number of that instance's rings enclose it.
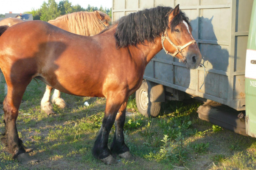
<instances>
[{"instance_id":1,"label":"bay horse's nearer foreleg with black stocking, left of the front pair","mask_svg":"<svg viewBox=\"0 0 256 170\"><path fill-rule=\"evenodd\" d=\"M102 126L92 149L93 156L100 159L107 165L117 163L116 159L111 155L111 151L109 150L107 144L109 140L109 132L116 119L116 114L125 100L123 96L125 96L125 94L116 95L115 97L111 95L107 97Z\"/></svg>"}]
</instances>

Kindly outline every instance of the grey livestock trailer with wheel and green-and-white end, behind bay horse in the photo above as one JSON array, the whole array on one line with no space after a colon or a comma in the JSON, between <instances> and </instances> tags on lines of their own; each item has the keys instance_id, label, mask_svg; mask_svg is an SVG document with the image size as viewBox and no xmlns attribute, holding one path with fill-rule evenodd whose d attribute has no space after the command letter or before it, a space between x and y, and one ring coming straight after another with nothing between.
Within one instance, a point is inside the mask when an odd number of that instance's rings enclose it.
<instances>
[{"instance_id":1,"label":"grey livestock trailer with wheel and green-and-white end, behind bay horse","mask_svg":"<svg viewBox=\"0 0 256 170\"><path fill-rule=\"evenodd\" d=\"M200 119L256 137L256 13L252 12L255 3L253 6L253 0L113 0L113 21L145 8L180 4L190 19L205 66L189 70L178 59L160 51L147 65L142 86L136 91L139 112L157 116L160 103L166 99L197 98L205 102L198 108ZM255 24L254 29L250 23ZM253 40L249 41L248 35ZM251 50L247 50L247 42Z\"/></svg>"}]
</instances>

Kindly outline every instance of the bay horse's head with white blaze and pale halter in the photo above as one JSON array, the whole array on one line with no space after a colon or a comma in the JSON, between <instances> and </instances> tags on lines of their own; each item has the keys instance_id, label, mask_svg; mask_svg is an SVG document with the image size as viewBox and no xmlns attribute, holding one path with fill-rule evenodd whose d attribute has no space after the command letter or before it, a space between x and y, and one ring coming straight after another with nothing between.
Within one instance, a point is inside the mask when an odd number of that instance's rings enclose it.
<instances>
[{"instance_id":1,"label":"bay horse's head with white blaze and pale halter","mask_svg":"<svg viewBox=\"0 0 256 170\"><path fill-rule=\"evenodd\" d=\"M161 36L161 43L167 54L178 58L187 68L195 69L202 56L191 33L188 18L177 5L168 16L168 27Z\"/></svg>"}]
</instances>

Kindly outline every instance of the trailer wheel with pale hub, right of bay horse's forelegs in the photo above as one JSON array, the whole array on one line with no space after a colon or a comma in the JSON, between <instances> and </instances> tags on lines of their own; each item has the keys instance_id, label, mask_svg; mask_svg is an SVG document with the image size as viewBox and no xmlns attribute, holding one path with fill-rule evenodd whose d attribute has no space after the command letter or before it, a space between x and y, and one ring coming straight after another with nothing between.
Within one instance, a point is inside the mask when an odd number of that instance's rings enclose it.
<instances>
[{"instance_id":1,"label":"trailer wheel with pale hub, right of bay horse's forelegs","mask_svg":"<svg viewBox=\"0 0 256 170\"><path fill-rule=\"evenodd\" d=\"M150 82L142 81L140 88L136 91L136 104L138 111L146 117L158 116L161 102L150 102Z\"/></svg>"}]
</instances>

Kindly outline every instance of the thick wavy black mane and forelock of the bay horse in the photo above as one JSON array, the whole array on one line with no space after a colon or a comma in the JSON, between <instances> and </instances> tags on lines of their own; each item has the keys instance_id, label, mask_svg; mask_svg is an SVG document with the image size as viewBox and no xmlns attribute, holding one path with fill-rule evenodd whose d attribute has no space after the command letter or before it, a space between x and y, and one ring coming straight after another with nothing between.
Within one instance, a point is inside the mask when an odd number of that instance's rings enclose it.
<instances>
[{"instance_id":1,"label":"thick wavy black mane and forelock of the bay horse","mask_svg":"<svg viewBox=\"0 0 256 170\"><path fill-rule=\"evenodd\" d=\"M114 33L116 47L136 46L144 44L145 40L153 42L168 28L168 14L172 11L171 7L158 6L123 16L117 22L116 33ZM188 17L180 11L171 21L171 31L183 20L190 24Z\"/></svg>"}]
</instances>

